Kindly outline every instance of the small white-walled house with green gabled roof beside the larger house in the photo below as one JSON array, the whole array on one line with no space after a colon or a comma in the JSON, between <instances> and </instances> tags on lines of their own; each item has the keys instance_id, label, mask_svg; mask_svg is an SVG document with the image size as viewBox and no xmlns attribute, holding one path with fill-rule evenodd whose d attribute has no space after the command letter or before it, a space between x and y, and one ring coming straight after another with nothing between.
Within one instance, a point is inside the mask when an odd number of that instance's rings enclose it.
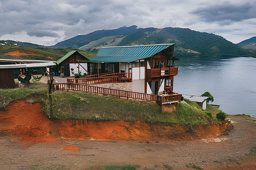
<instances>
[{"instance_id":1,"label":"small white-walled house with green gabled roof beside the larger house","mask_svg":"<svg viewBox=\"0 0 256 170\"><path fill-rule=\"evenodd\" d=\"M83 60L83 61L82 61ZM80 52L74 50L68 52L57 61L60 74L64 76L74 76L74 74L87 74L87 62L89 59Z\"/></svg>"}]
</instances>

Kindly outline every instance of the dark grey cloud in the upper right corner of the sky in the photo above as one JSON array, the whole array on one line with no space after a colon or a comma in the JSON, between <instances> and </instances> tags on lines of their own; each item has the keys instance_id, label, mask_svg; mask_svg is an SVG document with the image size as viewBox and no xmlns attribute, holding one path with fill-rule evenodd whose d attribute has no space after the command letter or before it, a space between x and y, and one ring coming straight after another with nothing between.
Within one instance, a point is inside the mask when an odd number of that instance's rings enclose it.
<instances>
[{"instance_id":1,"label":"dark grey cloud in the upper right corner of the sky","mask_svg":"<svg viewBox=\"0 0 256 170\"><path fill-rule=\"evenodd\" d=\"M234 5L230 3L223 3L215 6L206 6L191 12L200 16L206 22L222 21L220 24L231 24L231 21L242 21L244 19L256 18L255 3L246 3L243 5ZM229 20L229 21L225 21Z\"/></svg>"}]
</instances>

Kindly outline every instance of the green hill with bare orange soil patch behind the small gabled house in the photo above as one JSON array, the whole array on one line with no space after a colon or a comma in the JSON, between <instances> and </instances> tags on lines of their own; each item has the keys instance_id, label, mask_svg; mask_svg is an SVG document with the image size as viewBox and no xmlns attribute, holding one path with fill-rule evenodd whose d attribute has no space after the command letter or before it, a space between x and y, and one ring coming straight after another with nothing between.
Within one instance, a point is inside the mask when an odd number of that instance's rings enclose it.
<instances>
[{"instance_id":1,"label":"green hill with bare orange soil patch behind the small gabled house","mask_svg":"<svg viewBox=\"0 0 256 170\"><path fill-rule=\"evenodd\" d=\"M57 61L66 53L77 50L71 48L39 48L0 45L0 59L30 59L30 60L51 60ZM87 58L96 56L96 53L78 50Z\"/></svg>"}]
</instances>

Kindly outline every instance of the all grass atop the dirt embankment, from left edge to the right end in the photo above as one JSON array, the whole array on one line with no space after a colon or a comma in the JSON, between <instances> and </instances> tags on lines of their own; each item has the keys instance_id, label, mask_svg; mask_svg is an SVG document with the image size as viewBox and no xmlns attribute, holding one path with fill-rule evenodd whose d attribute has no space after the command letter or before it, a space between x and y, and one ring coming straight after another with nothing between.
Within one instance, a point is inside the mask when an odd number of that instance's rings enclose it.
<instances>
[{"instance_id":1,"label":"all grass atop the dirt embankment, from left edge to the right end","mask_svg":"<svg viewBox=\"0 0 256 170\"><path fill-rule=\"evenodd\" d=\"M91 119L124 120L150 123L206 124L217 123L206 111L192 106L177 104L173 112L161 112L156 102L120 99L114 96L100 96L77 91L55 91L53 97L53 118L55 119ZM0 89L0 108L5 108L15 99L29 99L28 102L41 102L46 115L50 116L47 99L47 85L32 83L27 88Z\"/></svg>"}]
</instances>

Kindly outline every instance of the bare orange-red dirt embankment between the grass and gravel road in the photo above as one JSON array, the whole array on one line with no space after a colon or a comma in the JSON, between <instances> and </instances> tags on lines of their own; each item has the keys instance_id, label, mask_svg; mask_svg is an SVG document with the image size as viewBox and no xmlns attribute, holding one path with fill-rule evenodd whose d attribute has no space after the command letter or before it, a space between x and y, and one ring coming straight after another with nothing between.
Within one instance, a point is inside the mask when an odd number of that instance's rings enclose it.
<instances>
[{"instance_id":1,"label":"bare orange-red dirt embankment between the grass and gravel road","mask_svg":"<svg viewBox=\"0 0 256 170\"><path fill-rule=\"evenodd\" d=\"M23 100L10 103L0 111L0 136L12 135L20 142L54 142L58 138L89 140L126 140L141 142L185 141L220 135L228 122L208 125L95 120L50 120L40 103Z\"/></svg>"}]
</instances>

